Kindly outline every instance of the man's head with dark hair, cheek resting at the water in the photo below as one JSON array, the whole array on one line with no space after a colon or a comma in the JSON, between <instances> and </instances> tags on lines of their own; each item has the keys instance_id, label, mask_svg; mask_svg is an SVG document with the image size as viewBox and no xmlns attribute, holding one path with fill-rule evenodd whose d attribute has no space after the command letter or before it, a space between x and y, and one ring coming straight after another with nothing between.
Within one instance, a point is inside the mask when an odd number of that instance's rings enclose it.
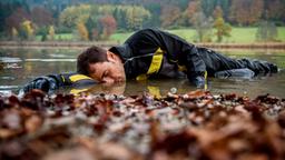
<instances>
[{"instance_id":1,"label":"man's head with dark hair, cheek resting at the water","mask_svg":"<svg viewBox=\"0 0 285 160\"><path fill-rule=\"evenodd\" d=\"M99 47L90 47L78 56L77 71L99 82L114 83L126 80L121 59Z\"/></svg>"}]
</instances>

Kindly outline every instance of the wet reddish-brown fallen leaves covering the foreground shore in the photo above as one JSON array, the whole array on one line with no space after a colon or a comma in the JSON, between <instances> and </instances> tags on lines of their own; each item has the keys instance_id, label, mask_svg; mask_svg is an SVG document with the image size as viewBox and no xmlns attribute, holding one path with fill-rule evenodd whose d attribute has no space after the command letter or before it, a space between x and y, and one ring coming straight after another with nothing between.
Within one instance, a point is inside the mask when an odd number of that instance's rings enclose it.
<instances>
[{"instance_id":1,"label":"wet reddish-brown fallen leaves covering the foreground shore","mask_svg":"<svg viewBox=\"0 0 285 160\"><path fill-rule=\"evenodd\" d=\"M0 97L0 159L281 160L285 100L190 91Z\"/></svg>"}]
</instances>

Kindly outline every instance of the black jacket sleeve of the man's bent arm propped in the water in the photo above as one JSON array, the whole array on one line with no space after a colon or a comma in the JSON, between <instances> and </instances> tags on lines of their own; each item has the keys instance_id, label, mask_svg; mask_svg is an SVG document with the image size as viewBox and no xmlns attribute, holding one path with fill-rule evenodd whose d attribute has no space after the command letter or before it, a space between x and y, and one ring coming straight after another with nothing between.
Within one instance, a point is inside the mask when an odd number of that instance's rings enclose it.
<instances>
[{"instance_id":1,"label":"black jacket sleeve of the man's bent arm propped in the water","mask_svg":"<svg viewBox=\"0 0 285 160\"><path fill-rule=\"evenodd\" d=\"M156 34L153 39L157 40L158 46L167 52L169 62L185 66L189 81L197 87L204 86L206 66L197 48L178 36L160 30L149 29L149 31Z\"/></svg>"}]
</instances>

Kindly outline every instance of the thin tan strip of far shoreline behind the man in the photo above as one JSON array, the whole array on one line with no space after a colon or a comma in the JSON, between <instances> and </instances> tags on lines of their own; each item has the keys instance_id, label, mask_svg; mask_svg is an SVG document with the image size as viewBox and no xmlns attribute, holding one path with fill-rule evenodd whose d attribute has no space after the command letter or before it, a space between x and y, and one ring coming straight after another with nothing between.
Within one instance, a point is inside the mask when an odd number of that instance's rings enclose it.
<instances>
[{"instance_id":1,"label":"thin tan strip of far shoreline behind the man","mask_svg":"<svg viewBox=\"0 0 285 160\"><path fill-rule=\"evenodd\" d=\"M90 46L119 46L116 41L0 41L0 48L86 48ZM255 42L255 43L195 43L199 47L213 49L276 49L285 50L285 42Z\"/></svg>"}]
</instances>

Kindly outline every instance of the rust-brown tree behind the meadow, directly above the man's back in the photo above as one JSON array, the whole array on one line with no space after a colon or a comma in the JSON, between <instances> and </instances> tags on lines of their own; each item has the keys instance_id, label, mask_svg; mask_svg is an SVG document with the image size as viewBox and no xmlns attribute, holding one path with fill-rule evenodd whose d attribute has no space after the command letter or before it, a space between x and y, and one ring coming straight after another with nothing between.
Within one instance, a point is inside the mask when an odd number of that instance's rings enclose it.
<instances>
[{"instance_id":1,"label":"rust-brown tree behind the meadow, directly above the man's back","mask_svg":"<svg viewBox=\"0 0 285 160\"><path fill-rule=\"evenodd\" d=\"M166 4L163 6L160 13L161 27L167 28L174 26L179 17L181 16L181 11L177 6Z\"/></svg>"}]
</instances>

